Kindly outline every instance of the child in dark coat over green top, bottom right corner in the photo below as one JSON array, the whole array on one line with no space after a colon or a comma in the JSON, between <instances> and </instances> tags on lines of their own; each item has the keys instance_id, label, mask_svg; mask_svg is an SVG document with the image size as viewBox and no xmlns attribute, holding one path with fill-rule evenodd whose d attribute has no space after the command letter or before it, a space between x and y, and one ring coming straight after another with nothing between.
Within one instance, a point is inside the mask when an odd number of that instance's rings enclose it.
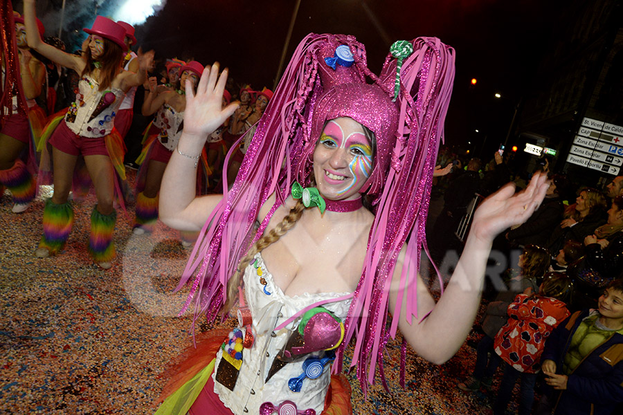
<instances>
[{"instance_id":1,"label":"child in dark coat over green top, bottom right corner","mask_svg":"<svg viewBox=\"0 0 623 415\"><path fill-rule=\"evenodd\" d=\"M545 344L543 374L554 390L543 394L537 414L621 413L623 279L611 282L598 304L573 313Z\"/></svg>"}]
</instances>

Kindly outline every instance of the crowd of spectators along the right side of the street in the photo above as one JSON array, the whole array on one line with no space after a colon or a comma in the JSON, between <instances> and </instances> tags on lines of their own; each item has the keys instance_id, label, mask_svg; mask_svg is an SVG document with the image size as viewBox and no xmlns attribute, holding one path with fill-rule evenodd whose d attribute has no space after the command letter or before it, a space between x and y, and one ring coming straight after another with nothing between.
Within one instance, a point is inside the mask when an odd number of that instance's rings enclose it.
<instances>
[{"instance_id":1,"label":"crowd of spectators along the right side of the street","mask_svg":"<svg viewBox=\"0 0 623 415\"><path fill-rule=\"evenodd\" d=\"M463 161L455 160L448 149L437 160L440 167L453 165L453 172L435 178L433 195L444 199L428 232L437 264L461 248L458 225L469 218L470 203L514 178L522 183L497 152L484 171L476 158L463 169ZM493 414L505 413L516 380L521 380L520 415L620 414L623 176L598 190L574 186L564 174L548 174L541 206L494 243L510 267L500 275L503 285L485 291L485 314L475 326L482 338L472 344L473 371L458 387L489 394ZM500 366L503 374L494 387ZM535 396L539 401L533 405Z\"/></svg>"}]
</instances>

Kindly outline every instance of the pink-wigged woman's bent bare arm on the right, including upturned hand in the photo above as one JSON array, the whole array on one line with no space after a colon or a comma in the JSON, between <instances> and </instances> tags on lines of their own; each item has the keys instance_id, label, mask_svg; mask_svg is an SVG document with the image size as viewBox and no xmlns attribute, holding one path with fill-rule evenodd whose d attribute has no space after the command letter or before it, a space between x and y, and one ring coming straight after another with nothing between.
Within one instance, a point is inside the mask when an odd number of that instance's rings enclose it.
<instances>
[{"instance_id":1,"label":"pink-wigged woman's bent bare arm on the right, including upturned hand","mask_svg":"<svg viewBox=\"0 0 623 415\"><path fill-rule=\"evenodd\" d=\"M474 214L462 255L437 304L417 275L417 313L419 318L427 313L430 315L419 323L414 319L409 324L403 306L398 326L419 356L441 364L454 356L461 347L478 311L485 268L494 238L510 226L525 222L532 215L545 197L549 185L546 180L545 174L534 174L530 185L523 192L514 194L515 188L509 184L480 204ZM390 311L394 310L397 301L404 258L403 249L392 281ZM406 304L406 298L402 304Z\"/></svg>"}]
</instances>

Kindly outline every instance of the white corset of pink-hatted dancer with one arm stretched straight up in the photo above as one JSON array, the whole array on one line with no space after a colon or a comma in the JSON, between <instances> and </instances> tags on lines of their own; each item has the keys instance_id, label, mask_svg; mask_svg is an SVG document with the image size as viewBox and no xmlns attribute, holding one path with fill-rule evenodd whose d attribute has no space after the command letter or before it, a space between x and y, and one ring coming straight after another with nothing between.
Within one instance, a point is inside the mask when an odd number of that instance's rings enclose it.
<instances>
[{"instance_id":1,"label":"white corset of pink-hatted dancer with one arm stretched straight up","mask_svg":"<svg viewBox=\"0 0 623 415\"><path fill-rule=\"evenodd\" d=\"M120 89L98 88L98 82L88 75L78 82L75 101L65 116L67 127L78 136L103 137L114 127L115 114L125 95Z\"/></svg>"}]
</instances>

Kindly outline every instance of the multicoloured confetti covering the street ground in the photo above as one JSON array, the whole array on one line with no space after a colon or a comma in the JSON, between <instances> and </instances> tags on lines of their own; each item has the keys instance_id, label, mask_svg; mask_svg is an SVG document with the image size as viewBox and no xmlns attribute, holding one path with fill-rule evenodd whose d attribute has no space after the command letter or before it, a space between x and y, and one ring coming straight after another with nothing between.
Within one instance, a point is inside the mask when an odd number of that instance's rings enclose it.
<instances>
[{"instance_id":1,"label":"multicoloured confetti covering the street ground","mask_svg":"<svg viewBox=\"0 0 623 415\"><path fill-rule=\"evenodd\" d=\"M100 269L87 252L96 203L91 194L74 203L75 223L64 251L38 259L43 198L51 189L40 193L23 214L10 212L8 192L0 195L0 413L152 414L165 381L157 374L192 343L190 316L177 317L188 289L172 293L190 248L162 223L151 235L132 234L130 206L127 214L118 209L114 266ZM200 331L207 329L200 324ZM400 337L388 344L390 393L377 378L366 400L354 371L347 375L355 414L489 411L482 391L466 394L456 387L473 368L471 347L464 345L442 366L408 349L403 390L400 344Z\"/></svg>"}]
</instances>

